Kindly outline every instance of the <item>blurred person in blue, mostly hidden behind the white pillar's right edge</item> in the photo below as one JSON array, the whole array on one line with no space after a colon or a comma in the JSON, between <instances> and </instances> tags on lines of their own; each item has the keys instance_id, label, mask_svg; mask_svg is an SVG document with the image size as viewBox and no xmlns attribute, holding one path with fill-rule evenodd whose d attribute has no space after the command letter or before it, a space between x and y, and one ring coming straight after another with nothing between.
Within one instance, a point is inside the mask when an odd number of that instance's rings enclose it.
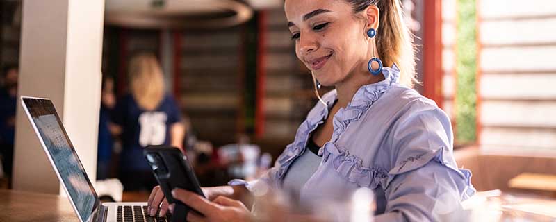
<instances>
[{"instance_id":1,"label":"blurred person in blue, mostly hidden behind the white pillar's right edge","mask_svg":"<svg viewBox=\"0 0 556 222\"><path fill-rule=\"evenodd\" d=\"M99 151L97 153L97 180L110 178L114 140L111 133L110 115L116 105L114 80L106 76L102 79L99 114Z\"/></svg>"}]
</instances>

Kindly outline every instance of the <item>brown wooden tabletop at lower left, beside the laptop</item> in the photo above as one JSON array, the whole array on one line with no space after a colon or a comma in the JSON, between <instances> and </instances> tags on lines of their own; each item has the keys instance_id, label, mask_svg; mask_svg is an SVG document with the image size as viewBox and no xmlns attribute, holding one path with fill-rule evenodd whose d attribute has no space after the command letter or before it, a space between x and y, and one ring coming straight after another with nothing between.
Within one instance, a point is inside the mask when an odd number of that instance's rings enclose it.
<instances>
[{"instance_id":1,"label":"brown wooden tabletop at lower left, beside the laptop","mask_svg":"<svg viewBox=\"0 0 556 222\"><path fill-rule=\"evenodd\" d=\"M0 221L79 221L70 200L52 194L0 189Z\"/></svg>"}]
</instances>

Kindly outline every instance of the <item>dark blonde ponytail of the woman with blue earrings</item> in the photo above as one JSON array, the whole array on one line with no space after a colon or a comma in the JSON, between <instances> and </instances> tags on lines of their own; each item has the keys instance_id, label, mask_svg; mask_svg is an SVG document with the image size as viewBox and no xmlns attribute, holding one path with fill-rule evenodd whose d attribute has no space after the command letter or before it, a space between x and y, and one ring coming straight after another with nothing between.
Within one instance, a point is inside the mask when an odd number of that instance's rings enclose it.
<instances>
[{"instance_id":1,"label":"dark blonde ponytail of the woman with blue earrings","mask_svg":"<svg viewBox=\"0 0 556 222\"><path fill-rule=\"evenodd\" d=\"M379 9L379 27L377 30L377 51L384 65L394 63L400 68L399 83L413 87L418 83L415 78L415 47L413 35L404 22L400 0L344 0L350 3L355 13L368 6Z\"/></svg>"}]
</instances>

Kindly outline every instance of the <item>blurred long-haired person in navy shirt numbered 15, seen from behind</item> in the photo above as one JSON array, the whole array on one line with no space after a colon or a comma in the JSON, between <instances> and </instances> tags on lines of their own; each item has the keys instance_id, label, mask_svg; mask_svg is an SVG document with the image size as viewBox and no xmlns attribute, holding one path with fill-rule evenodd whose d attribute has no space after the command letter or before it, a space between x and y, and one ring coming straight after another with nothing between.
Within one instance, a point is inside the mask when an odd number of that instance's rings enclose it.
<instances>
[{"instance_id":1,"label":"blurred long-haired person in navy shirt numbered 15, seen from behind","mask_svg":"<svg viewBox=\"0 0 556 222\"><path fill-rule=\"evenodd\" d=\"M152 54L129 64L130 93L117 100L113 132L122 142L119 176L125 190L152 189L157 182L142 150L149 145L181 149L184 128L177 103L165 92L162 69Z\"/></svg>"}]
</instances>

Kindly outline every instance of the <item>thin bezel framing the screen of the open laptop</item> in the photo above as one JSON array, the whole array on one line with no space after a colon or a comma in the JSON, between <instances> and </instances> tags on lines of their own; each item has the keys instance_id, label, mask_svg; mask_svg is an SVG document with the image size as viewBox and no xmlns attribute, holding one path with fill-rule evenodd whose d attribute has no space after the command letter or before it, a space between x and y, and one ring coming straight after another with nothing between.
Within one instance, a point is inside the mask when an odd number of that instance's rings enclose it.
<instances>
[{"instance_id":1,"label":"thin bezel framing the screen of the open laptop","mask_svg":"<svg viewBox=\"0 0 556 222\"><path fill-rule=\"evenodd\" d=\"M85 171L85 167L83 167L83 164L81 164L81 159L79 159L79 155L77 155L77 152L75 151L74 145L72 144L72 141L70 139L70 136L67 135L65 127L63 126L63 124L60 124L61 130L63 130L63 133L65 133L65 135L67 136L67 140L68 140L67 142L70 144L70 146L72 148L72 152L77 157L76 159L77 159L77 162L78 162L79 166L81 167L81 169L83 169L83 173L85 173L85 179L89 183L89 186L92 190L92 194L95 196L95 204L93 205L92 212L91 212L89 218L86 221L81 220L81 214L79 214L79 210L77 209L77 206L75 205L74 200L73 200L72 196L70 195L70 192L67 190L67 187L65 186L65 183L62 179L62 176L60 176L60 172L58 171L58 168L56 167L56 164L54 163L54 160L52 159L52 157L50 155L50 152L47 149L46 144L44 144L44 141L42 140L40 132L38 131L37 126L35 125L35 121L33 121L33 116L31 116L31 112L29 112L29 110L27 108L27 104L24 101L24 99L39 99L39 100L50 101L52 103L51 99L32 97L32 96L20 96L20 97L21 97L22 107L25 111L25 114L27 115L27 119L29 120L29 122L31 122L31 126L33 127L33 130L35 131L35 134L37 135L37 137L39 139L40 145L42 146L42 149L44 150L44 153L47 153L48 160L50 161L50 164L51 164L52 168L54 168L54 171L56 172L56 176L58 176L58 180L60 181L60 184L62 185L62 187L64 187L65 194L67 195L68 198L70 198L70 203L72 204L72 207L74 208L74 212L77 214L77 217L78 217L79 221L81 221L81 222L92 221L92 219L95 218L95 215L97 214L97 211L100 208L99 207L101 205L100 204L100 198L97 195L97 191L95 190L95 187L92 186L92 183L89 179L89 176L87 175L87 171ZM54 107L54 114L56 115L56 118L61 122L60 116L58 115L58 111L56 110L56 106L54 106L54 103L52 103L52 106Z\"/></svg>"}]
</instances>

